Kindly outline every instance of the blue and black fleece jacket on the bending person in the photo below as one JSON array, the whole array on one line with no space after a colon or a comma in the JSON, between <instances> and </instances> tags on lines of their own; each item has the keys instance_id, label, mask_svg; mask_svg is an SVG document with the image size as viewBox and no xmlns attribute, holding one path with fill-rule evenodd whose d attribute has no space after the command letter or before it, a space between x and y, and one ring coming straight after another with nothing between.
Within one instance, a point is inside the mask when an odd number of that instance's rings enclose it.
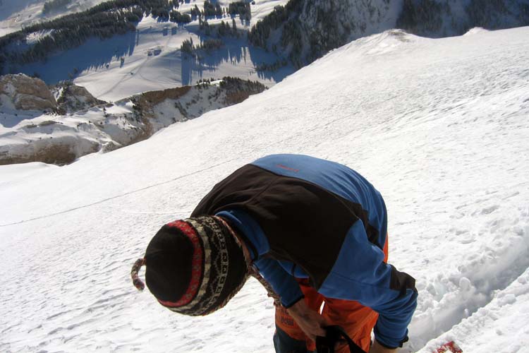
<instances>
[{"instance_id":1,"label":"blue and black fleece jacket on the bending person","mask_svg":"<svg viewBox=\"0 0 529 353\"><path fill-rule=\"evenodd\" d=\"M238 229L265 280L289 307L308 278L325 297L379 313L375 338L401 347L417 306L415 280L384 263L387 210L380 193L342 164L269 155L215 185L192 213Z\"/></svg>"}]
</instances>

